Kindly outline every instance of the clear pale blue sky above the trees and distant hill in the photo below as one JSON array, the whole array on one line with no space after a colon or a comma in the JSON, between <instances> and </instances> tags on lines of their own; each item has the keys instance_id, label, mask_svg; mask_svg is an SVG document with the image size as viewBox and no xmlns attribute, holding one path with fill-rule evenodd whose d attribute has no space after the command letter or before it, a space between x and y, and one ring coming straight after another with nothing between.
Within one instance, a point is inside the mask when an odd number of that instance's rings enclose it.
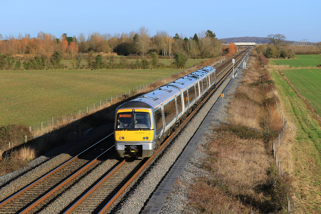
<instances>
[{"instance_id":1,"label":"clear pale blue sky above the trees and distant hill","mask_svg":"<svg viewBox=\"0 0 321 214\"><path fill-rule=\"evenodd\" d=\"M281 33L287 40L321 41L320 1L2 1L0 34L60 37L98 31L121 33L146 26L193 36L212 30L217 38Z\"/></svg>"}]
</instances>

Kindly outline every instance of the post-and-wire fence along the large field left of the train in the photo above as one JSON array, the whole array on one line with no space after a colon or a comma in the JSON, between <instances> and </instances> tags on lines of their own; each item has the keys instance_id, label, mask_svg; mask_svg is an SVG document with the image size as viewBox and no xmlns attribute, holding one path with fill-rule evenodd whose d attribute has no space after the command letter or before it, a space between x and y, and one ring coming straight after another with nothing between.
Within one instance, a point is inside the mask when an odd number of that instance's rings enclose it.
<instances>
[{"instance_id":1,"label":"post-and-wire fence along the large field left of the train","mask_svg":"<svg viewBox=\"0 0 321 214\"><path fill-rule=\"evenodd\" d=\"M137 93L139 93L140 90L145 89L146 87L150 86L153 83L166 80L166 79L168 79L168 78L170 78L170 77L172 77L172 76L174 76L176 74L179 74L179 73L183 73L183 72L186 72L186 71L189 71L189 70L193 70L199 65L200 64L196 64L196 65L194 65L194 66L192 66L192 67L190 67L188 69L181 70L181 71L172 73L172 74L170 74L168 76L160 77L160 78L156 79L155 81L147 82L146 84L130 88L127 91L125 91L124 93L116 94L116 95L113 95L113 96L110 96L110 97L106 97L106 98L101 99L101 100L97 100L96 102L93 102L90 105L79 109L79 111L71 112L69 115L62 115L61 117L51 117L48 120L41 121L38 124L34 124L32 126L29 126L29 131L31 133L36 133L37 132L36 135L38 135L38 133L42 133L44 130L47 130L47 129L52 129L53 127L55 127L58 124L68 124L68 123L71 124L71 123L73 123L74 120L78 120L78 119L82 118L85 115L88 115L90 113L95 112L95 110L97 110L98 108L102 107L103 105L106 105L106 104L110 104L111 105L113 103L113 101L119 100L121 98L124 98L124 96L131 95L133 93L137 94Z\"/></svg>"}]
</instances>

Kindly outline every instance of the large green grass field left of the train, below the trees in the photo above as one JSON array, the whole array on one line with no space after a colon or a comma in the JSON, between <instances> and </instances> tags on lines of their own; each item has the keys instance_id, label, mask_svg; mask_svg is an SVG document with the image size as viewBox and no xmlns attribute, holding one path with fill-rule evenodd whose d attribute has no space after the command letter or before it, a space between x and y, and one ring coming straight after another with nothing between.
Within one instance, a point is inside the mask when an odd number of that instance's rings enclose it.
<instances>
[{"instance_id":1,"label":"large green grass field left of the train, below the trees","mask_svg":"<svg viewBox=\"0 0 321 214\"><path fill-rule=\"evenodd\" d=\"M178 70L0 71L0 125L40 124Z\"/></svg>"}]
</instances>

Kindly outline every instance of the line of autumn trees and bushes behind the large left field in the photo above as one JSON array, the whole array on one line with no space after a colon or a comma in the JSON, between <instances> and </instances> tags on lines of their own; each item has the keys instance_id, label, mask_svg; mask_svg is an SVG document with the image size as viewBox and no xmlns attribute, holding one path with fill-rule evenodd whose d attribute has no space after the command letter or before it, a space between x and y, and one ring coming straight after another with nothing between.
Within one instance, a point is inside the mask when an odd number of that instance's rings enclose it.
<instances>
[{"instance_id":1,"label":"line of autumn trees and bushes behind the large left field","mask_svg":"<svg viewBox=\"0 0 321 214\"><path fill-rule=\"evenodd\" d=\"M221 48L222 42L211 30L202 31L198 35L195 33L189 38L183 38L178 33L172 37L167 31L161 30L151 36L148 28L144 26L129 33L111 35L92 32L87 37L83 33L79 33L78 36L63 33L60 38L56 38L43 31L33 38L29 34L3 38L0 34L0 69L56 69L61 68L60 62L63 57L72 60L74 69L140 68L146 67L147 62L149 67L164 67L155 63L155 56L168 56L174 60L175 67L184 67L187 58L212 58L220 54ZM103 53L143 58L135 63L114 64L115 60L112 57L103 59ZM148 61L144 59L145 56L154 56L154 59ZM24 60L22 57L25 57ZM177 63L176 59L180 59L180 62ZM87 62L85 66L83 60ZM95 64L97 60L100 63Z\"/></svg>"}]
</instances>

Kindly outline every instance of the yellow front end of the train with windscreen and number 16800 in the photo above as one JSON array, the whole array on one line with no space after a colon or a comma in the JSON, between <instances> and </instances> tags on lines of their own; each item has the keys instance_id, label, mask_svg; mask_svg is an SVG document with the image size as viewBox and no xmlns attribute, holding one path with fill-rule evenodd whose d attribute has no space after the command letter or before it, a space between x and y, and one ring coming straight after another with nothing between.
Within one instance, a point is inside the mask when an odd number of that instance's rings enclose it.
<instances>
[{"instance_id":1,"label":"yellow front end of the train with windscreen and number 16800","mask_svg":"<svg viewBox=\"0 0 321 214\"><path fill-rule=\"evenodd\" d=\"M119 106L115 118L115 146L120 157L150 157L155 149L152 107L140 101Z\"/></svg>"}]
</instances>

